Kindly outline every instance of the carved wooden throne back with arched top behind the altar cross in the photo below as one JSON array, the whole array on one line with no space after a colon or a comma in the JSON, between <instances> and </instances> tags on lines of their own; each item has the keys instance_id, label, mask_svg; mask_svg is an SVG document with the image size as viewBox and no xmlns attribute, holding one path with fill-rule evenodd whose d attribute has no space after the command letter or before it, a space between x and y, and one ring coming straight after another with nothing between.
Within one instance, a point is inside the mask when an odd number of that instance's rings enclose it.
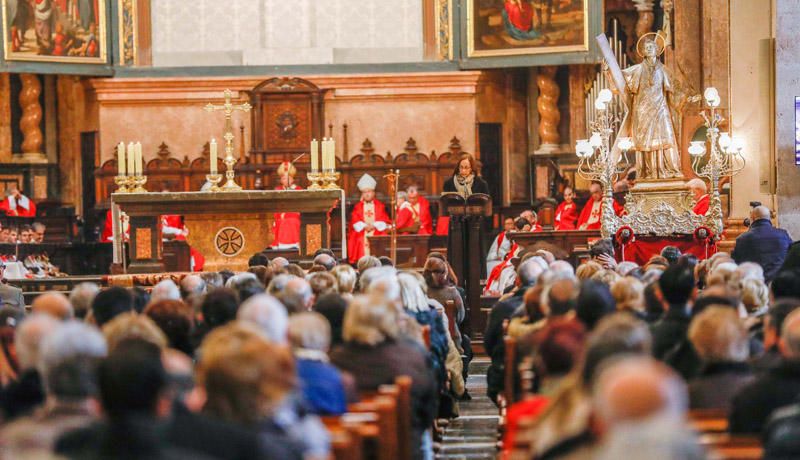
<instances>
[{"instance_id":1,"label":"carved wooden throne back with arched top behind the altar cross","mask_svg":"<svg viewBox=\"0 0 800 460\"><path fill-rule=\"evenodd\" d=\"M250 155L255 163L292 160L325 132L324 90L308 80L276 77L248 92L253 106Z\"/></svg>"}]
</instances>

